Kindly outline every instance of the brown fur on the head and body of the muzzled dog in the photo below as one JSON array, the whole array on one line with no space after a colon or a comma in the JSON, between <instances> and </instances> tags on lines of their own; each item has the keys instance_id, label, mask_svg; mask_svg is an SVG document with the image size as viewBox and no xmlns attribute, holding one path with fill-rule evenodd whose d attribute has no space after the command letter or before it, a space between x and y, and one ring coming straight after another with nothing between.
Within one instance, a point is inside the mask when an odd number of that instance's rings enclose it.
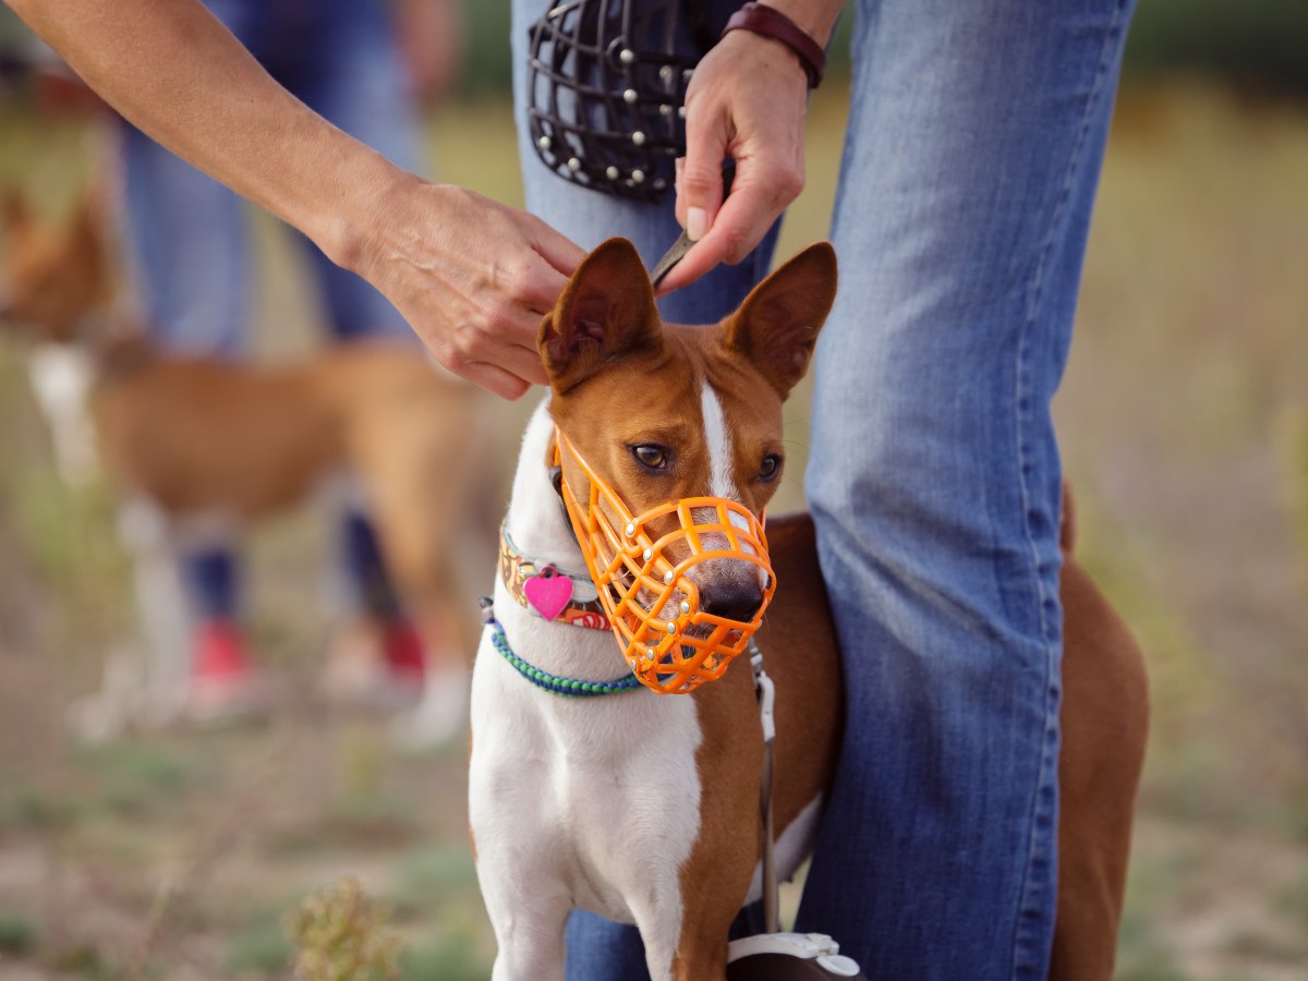
<instances>
[{"instance_id":1,"label":"brown fur on the head and body of the muzzled dog","mask_svg":"<svg viewBox=\"0 0 1308 981\"><path fill-rule=\"evenodd\" d=\"M722 395L736 446L751 449L749 459L734 467L742 502L756 513L766 504L774 485L753 480L757 459L780 441L781 400L807 368L816 326L835 296L829 246L808 250L785 269L785 289L774 285L778 280L765 283L721 327L659 324L634 250L612 241L587 258L545 319L540 349L555 388L551 411L634 513L704 493L676 483L676 473L651 481L627 449L633 438L659 442L659 428L675 425L668 405L693 400L692 382L700 377ZM787 330L790 336L778 334ZM620 416L608 411L613 405L624 407ZM670 432L666 442L684 455L679 472L702 479L706 464L696 456L702 450L684 433ZM566 476L570 485L586 487L579 472ZM1095 981L1109 978L1114 961L1147 681L1130 632L1073 556L1070 498L1065 510L1061 880L1050 977ZM777 684L774 807L783 829L831 782L842 702L812 522L806 514L773 518L768 540L781 585L759 640ZM704 730L704 795L701 835L680 876L685 926L674 973L702 981L721 974L727 926L760 852L761 823L751 824L747 815L755 814L759 794L761 732L747 670L736 667L691 697Z\"/></svg>"}]
</instances>

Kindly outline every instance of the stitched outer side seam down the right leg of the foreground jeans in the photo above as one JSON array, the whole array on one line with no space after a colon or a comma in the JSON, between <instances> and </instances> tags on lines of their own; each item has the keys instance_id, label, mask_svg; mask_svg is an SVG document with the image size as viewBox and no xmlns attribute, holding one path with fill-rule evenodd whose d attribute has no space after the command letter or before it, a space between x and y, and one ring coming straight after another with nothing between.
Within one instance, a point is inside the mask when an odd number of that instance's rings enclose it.
<instances>
[{"instance_id":1,"label":"stitched outer side seam down the right leg of the foreground jeans","mask_svg":"<svg viewBox=\"0 0 1308 981\"><path fill-rule=\"evenodd\" d=\"M1067 167L1063 175L1062 187L1058 191L1058 199L1054 205L1054 215L1049 222L1049 232L1045 237L1045 241L1041 243L1040 258L1036 263L1035 275L1032 276L1029 286L1031 290L1029 302L1027 305L1027 315L1022 326L1022 335L1018 344L1018 371L1015 377L1016 390L1014 392L1015 405L1018 408L1016 412L1018 487L1022 494L1024 536L1027 539L1027 548L1029 551L1032 560L1032 572L1035 576L1036 594L1039 598L1040 636L1045 646L1045 697L1044 697L1045 726L1041 732L1040 768L1036 776L1036 789L1035 793L1031 795L1031 810L1028 812L1028 821L1029 821L1028 827L1031 828L1031 835L1028 837L1025 871L1023 872L1022 887L1018 899L1018 917L1014 925L1012 959L1011 959L1014 977L1019 977L1023 973L1028 973L1032 978L1041 977L1039 967L1032 965L1033 963L1027 956L1024 956L1024 951L1029 951L1029 948L1036 942L1036 938L1029 937L1029 927L1027 926L1028 923L1027 914L1036 913L1039 912L1039 908L1042 906L1042 904L1037 904L1036 901L1033 901L1031 895L1032 889L1035 888L1032 883L1032 867L1035 866L1036 861L1036 841L1037 837L1042 836L1041 829L1039 828L1039 820L1042 811L1041 798L1048 785L1046 774L1049 773L1050 743L1057 744L1057 740L1052 740L1049 738L1050 736L1049 701L1050 701L1050 687L1052 687L1049 684L1049 679L1054 674L1054 666L1058 651L1057 651L1057 645L1054 642L1056 641L1054 625L1050 623L1049 613L1046 611L1048 596L1045 593L1044 577L1040 574L1040 549L1031 531L1029 514L1031 514L1032 490L1028 487L1028 476L1027 476L1027 466L1029 463L1029 455L1028 455L1027 441L1023 438L1023 432L1029 430L1029 413L1032 411L1031 399L1024 396L1035 394L1027 391L1029 388L1028 386L1029 339L1032 335L1032 330L1035 327L1036 311L1040 306L1040 296L1044 285L1045 268L1049 262L1050 252L1053 251L1057 230L1066 218L1067 213L1066 207L1069 199L1071 198L1073 175L1076 173L1076 169L1082 161L1082 156L1086 148L1086 137L1090 132L1090 126L1091 126L1090 120L1091 116L1093 115L1095 106L1097 105L1100 97L1103 95L1105 88L1104 82L1108 78L1110 63L1113 60L1110 54L1113 50L1113 43L1121 31L1122 12L1129 4L1130 0L1118 0L1118 3L1114 4L1113 18L1104 31L1104 38L1101 42L1100 55L1099 55L1099 64L1096 65L1095 69L1095 80L1086 98L1084 110L1082 112L1080 128L1076 133L1075 143L1067 158ZM1057 789L1057 760L1054 760L1053 787ZM1054 825L1054 835L1056 835L1054 848L1057 849L1057 824ZM1057 858L1054 861L1057 861ZM1054 888L1054 901L1057 904L1057 878ZM1048 943L1049 940L1052 940L1052 937L1053 935L1050 933L1048 938L1041 939L1041 943ZM1045 956L1048 955L1048 947L1045 948L1044 955ZM1041 964L1045 956L1042 956L1039 961L1035 961L1035 964Z\"/></svg>"}]
</instances>

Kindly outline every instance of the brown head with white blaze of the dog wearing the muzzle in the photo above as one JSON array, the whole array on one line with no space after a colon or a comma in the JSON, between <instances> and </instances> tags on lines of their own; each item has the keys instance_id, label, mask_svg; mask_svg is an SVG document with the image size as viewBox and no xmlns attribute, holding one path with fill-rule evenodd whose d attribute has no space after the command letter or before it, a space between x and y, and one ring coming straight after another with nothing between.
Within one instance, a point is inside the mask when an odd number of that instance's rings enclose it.
<instances>
[{"instance_id":1,"label":"brown head with white blaze of the dog wearing the muzzle","mask_svg":"<svg viewBox=\"0 0 1308 981\"><path fill-rule=\"evenodd\" d=\"M594 508L607 509L616 528L634 527L629 515L655 515L642 525L661 555L651 564L646 552L644 565L636 556L628 582L616 586L647 579L650 616L670 634L685 629L695 642L712 632L706 620L756 621L770 595L757 523L785 466L781 403L808 368L835 294L835 252L820 243L765 279L719 323L664 324L636 250L611 239L578 267L542 323L551 412L561 442L574 451L560 454L564 487L582 502L603 488ZM701 548L725 557L696 561L692 553ZM679 591L647 595L658 582L672 587L683 573ZM679 606L693 612L678 620ZM628 640L633 661L632 650L649 649L650 630L637 625Z\"/></svg>"}]
</instances>

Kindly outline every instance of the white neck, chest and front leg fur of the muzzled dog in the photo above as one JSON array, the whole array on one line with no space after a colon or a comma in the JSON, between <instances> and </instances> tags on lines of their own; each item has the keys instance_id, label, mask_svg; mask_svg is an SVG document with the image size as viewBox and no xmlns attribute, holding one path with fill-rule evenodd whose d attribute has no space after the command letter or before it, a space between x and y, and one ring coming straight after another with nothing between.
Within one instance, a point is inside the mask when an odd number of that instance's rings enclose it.
<instances>
[{"instance_id":1,"label":"white neck, chest and front leg fur of the muzzled dog","mask_svg":"<svg viewBox=\"0 0 1308 981\"><path fill-rule=\"evenodd\" d=\"M543 466L552 432L543 403L523 438L509 535L531 559L581 573ZM513 651L543 671L596 681L629 674L610 632L547 623L498 581L494 615ZM683 918L678 871L700 828L695 700L645 689L551 695L500 655L488 629L471 714L468 816L500 947L493 978L561 981L574 906L636 923L651 977L670 978Z\"/></svg>"}]
</instances>

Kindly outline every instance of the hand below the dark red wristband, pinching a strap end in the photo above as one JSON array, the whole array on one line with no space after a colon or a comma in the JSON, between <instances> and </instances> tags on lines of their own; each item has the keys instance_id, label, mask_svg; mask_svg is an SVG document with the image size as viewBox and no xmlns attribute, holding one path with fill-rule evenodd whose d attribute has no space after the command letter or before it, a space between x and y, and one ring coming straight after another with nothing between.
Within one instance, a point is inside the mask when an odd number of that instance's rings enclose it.
<instances>
[{"instance_id":1,"label":"hand below the dark red wristband, pinching a strap end","mask_svg":"<svg viewBox=\"0 0 1308 981\"><path fill-rule=\"evenodd\" d=\"M659 286L687 286L718 263L738 263L803 190L808 77L770 38L736 30L718 42L685 93L685 160L676 217L696 239ZM722 162L736 162L722 200Z\"/></svg>"}]
</instances>

